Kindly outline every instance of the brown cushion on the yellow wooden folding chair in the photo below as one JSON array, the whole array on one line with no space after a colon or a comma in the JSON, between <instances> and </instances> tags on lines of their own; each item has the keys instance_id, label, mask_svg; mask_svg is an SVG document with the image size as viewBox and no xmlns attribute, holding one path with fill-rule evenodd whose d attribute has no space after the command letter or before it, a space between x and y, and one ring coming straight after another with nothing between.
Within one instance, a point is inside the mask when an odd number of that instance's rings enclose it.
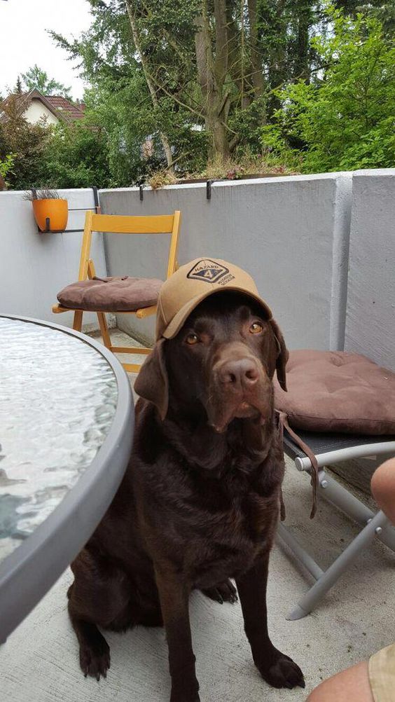
<instances>
[{"instance_id":1,"label":"brown cushion on the yellow wooden folding chair","mask_svg":"<svg viewBox=\"0 0 395 702\"><path fill-rule=\"evenodd\" d=\"M57 297L72 310L135 312L156 305L162 285L156 278L95 277L67 285Z\"/></svg>"}]
</instances>

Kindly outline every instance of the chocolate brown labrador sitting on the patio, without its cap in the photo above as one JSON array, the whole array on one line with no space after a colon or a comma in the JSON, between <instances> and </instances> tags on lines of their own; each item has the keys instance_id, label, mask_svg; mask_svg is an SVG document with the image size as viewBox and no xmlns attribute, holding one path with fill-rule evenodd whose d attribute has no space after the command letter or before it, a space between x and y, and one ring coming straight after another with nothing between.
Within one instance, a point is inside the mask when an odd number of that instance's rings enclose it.
<instances>
[{"instance_id":1,"label":"chocolate brown labrador sitting on the patio, without its cap","mask_svg":"<svg viewBox=\"0 0 395 702\"><path fill-rule=\"evenodd\" d=\"M133 455L107 514L72 563L69 616L85 675L106 677L98 627L164 624L170 702L199 701L189 625L193 588L235 599L262 677L304 687L267 631L269 552L279 519L283 450L272 377L287 352L273 319L239 292L208 296L161 338L136 381Z\"/></svg>"}]
</instances>

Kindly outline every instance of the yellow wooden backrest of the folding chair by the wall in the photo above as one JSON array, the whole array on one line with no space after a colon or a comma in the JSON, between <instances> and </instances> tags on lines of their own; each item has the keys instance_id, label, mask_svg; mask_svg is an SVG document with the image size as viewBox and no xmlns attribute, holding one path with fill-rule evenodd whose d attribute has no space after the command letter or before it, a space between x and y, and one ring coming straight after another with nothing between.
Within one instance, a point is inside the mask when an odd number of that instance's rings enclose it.
<instances>
[{"instance_id":1,"label":"yellow wooden backrest of the folding chair by the wall","mask_svg":"<svg viewBox=\"0 0 395 702\"><path fill-rule=\"evenodd\" d=\"M83 230L79 280L88 276L88 263L91 253L92 232L106 234L171 234L168 255L167 277L177 270L178 234L181 213L176 210L173 215L121 216L98 215L89 211L85 217Z\"/></svg>"}]
</instances>

